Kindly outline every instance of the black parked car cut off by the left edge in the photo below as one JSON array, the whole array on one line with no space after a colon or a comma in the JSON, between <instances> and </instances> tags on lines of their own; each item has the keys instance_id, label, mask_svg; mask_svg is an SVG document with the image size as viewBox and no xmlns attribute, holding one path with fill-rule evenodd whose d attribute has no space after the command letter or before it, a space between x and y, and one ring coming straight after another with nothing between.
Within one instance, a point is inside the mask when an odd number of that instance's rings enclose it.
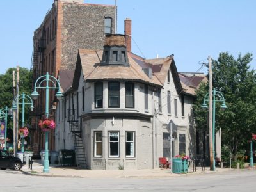
<instances>
[{"instance_id":1,"label":"black parked car cut off by the left edge","mask_svg":"<svg viewBox=\"0 0 256 192\"><path fill-rule=\"evenodd\" d=\"M22 162L19 158L9 154L6 150L0 150L0 168L6 170L11 168L15 171L19 171L22 168Z\"/></svg>"}]
</instances>

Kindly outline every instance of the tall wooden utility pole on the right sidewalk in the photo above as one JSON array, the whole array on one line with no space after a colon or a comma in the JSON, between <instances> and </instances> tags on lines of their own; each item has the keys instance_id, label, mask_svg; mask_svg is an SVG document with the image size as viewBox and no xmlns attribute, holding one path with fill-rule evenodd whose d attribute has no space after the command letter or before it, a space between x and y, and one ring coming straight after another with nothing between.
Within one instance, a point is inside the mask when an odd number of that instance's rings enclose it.
<instances>
[{"instance_id":1,"label":"tall wooden utility pole on the right sidewalk","mask_svg":"<svg viewBox=\"0 0 256 192\"><path fill-rule=\"evenodd\" d=\"M212 146L212 58L208 57L208 68L209 68L209 152L210 152L210 170L214 171L214 154Z\"/></svg>"}]
</instances>

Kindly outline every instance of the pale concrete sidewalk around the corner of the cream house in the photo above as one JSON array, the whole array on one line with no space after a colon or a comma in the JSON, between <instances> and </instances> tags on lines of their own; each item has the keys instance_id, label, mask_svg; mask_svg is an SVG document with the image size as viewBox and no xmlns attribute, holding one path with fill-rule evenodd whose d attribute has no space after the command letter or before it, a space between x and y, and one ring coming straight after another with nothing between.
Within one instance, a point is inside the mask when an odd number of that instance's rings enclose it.
<instances>
[{"instance_id":1,"label":"pale concrete sidewalk around the corner of the cream house","mask_svg":"<svg viewBox=\"0 0 256 192\"><path fill-rule=\"evenodd\" d=\"M189 168L188 173L177 174L171 173L170 169L147 169L147 170L81 170L75 166L65 167L60 164L50 164L49 173L43 173L43 165L40 164L40 160L35 160L32 166L32 170L28 168L28 164L22 167L21 172L28 175L36 176L49 176L49 177L78 177L88 179L124 179L124 178L140 178L140 179L152 179L152 178L170 178L170 177L187 177L195 174L205 173L221 173L232 172L234 169L229 168L216 168L215 171L210 171L209 167L205 167L205 171L202 172L201 168L196 168L196 172L193 172L193 168Z\"/></svg>"}]
</instances>

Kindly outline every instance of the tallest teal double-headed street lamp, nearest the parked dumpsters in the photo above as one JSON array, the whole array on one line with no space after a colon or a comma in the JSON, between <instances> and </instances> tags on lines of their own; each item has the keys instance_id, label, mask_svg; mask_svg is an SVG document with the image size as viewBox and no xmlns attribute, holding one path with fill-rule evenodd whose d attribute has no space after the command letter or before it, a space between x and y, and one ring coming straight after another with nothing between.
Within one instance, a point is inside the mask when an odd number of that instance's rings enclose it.
<instances>
[{"instance_id":1,"label":"tallest teal double-headed street lamp, nearest the parked dumpsters","mask_svg":"<svg viewBox=\"0 0 256 192\"><path fill-rule=\"evenodd\" d=\"M45 82L45 86L42 85L42 83ZM53 86L49 86L49 83L52 83ZM36 86L38 84L38 86ZM49 89L58 89L58 92L55 94L57 99L61 99L63 97L63 94L60 91L60 82L58 79L56 79L54 76L50 76L47 72L46 75L38 77L36 79L34 91L31 93L31 97L33 99L37 99L39 96L39 93L36 91L36 88L38 89L45 89L45 118L49 118ZM45 131L45 157L44 157L44 173L49 172L49 152L48 152L48 131Z\"/></svg>"}]
</instances>

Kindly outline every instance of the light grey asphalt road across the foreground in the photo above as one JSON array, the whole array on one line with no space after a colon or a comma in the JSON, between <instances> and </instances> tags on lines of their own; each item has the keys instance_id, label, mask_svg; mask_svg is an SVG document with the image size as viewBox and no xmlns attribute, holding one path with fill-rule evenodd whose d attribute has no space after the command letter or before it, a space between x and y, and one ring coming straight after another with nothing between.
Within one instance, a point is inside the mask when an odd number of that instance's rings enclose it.
<instances>
[{"instance_id":1,"label":"light grey asphalt road across the foreground","mask_svg":"<svg viewBox=\"0 0 256 192\"><path fill-rule=\"evenodd\" d=\"M0 171L0 191L256 191L256 170L187 174L168 179L82 179Z\"/></svg>"}]
</instances>

